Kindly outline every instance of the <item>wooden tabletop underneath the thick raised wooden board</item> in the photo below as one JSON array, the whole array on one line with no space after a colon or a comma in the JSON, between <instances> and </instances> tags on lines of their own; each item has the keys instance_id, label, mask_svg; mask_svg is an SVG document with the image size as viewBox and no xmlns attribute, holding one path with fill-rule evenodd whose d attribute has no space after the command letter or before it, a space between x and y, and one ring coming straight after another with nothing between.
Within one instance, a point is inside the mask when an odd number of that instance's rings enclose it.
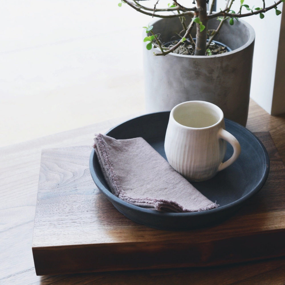
<instances>
[{"instance_id":1,"label":"wooden tabletop underneath the thick raised wooden board","mask_svg":"<svg viewBox=\"0 0 285 285\"><path fill-rule=\"evenodd\" d=\"M0 149L0 284L285 284L285 258L211 268L36 276L31 247L42 148L91 145L94 133L125 119ZM270 131L285 162L285 115L272 117L251 101L247 128Z\"/></svg>"}]
</instances>

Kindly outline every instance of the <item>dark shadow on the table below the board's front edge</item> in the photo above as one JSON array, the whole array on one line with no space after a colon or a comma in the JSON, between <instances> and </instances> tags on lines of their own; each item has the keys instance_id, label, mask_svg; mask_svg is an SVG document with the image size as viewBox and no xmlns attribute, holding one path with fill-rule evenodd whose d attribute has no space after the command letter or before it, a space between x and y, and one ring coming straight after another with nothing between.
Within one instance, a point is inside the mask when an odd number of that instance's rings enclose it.
<instances>
[{"instance_id":1,"label":"dark shadow on the table below the board's front edge","mask_svg":"<svg viewBox=\"0 0 285 285\"><path fill-rule=\"evenodd\" d=\"M279 284L285 280L285 258L208 268L136 270L42 276L41 285ZM275 282L276 281L276 282ZM283 284L283 283L282 283Z\"/></svg>"}]
</instances>

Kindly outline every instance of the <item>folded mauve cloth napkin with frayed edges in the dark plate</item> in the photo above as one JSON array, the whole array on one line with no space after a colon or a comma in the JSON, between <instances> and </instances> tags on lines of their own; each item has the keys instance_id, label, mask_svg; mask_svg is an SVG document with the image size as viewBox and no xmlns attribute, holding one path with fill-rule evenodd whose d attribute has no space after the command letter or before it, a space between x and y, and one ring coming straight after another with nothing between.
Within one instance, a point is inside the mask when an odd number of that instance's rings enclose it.
<instances>
[{"instance_id":1,"label":"folded mauve cloth napkin with frayed edges in the dark plate","mask_svg":"<svg viewBox=\"0 0 285 285\"><path fill-rule=\"evenodd\" d=\"M99 134L94 148L112 193L133 205L184 213L214 209L143 138L116 140Z\"/></svg>"}]
</instances>

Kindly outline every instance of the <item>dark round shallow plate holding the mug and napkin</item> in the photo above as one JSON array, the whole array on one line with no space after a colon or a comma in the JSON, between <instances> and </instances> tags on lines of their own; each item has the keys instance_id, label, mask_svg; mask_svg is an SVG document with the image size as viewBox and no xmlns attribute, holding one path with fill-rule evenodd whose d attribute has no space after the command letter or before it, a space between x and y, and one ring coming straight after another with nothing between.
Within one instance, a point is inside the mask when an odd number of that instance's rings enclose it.
<instances>
[{"instance_id":1,"label":"dark round shallow plate holding the mug and napkin","mask_svg":"<svg viewBox=\"0 0 285 285\"><path fill-rule=\"evenodd\" d=\"M115 139L143 137L165 159L164 137L170 112L143 115L126 121L106 135ZM137 223L156 229L186 230L212 225L237 211L251 196L264 185L269 173L269 157L264 145L249 130L225 119L226 130L241 144L241 155L228 168L214 178L192 184L207 198L220 206L203 212L161 213L131 205L113 195L103 177L94 150L90 156L90 172L97 187L126 217ZM231 157L233 149L227 145L225 160ZM112 219L112 217L110 217Z\"/></svg>"}]
</instances>

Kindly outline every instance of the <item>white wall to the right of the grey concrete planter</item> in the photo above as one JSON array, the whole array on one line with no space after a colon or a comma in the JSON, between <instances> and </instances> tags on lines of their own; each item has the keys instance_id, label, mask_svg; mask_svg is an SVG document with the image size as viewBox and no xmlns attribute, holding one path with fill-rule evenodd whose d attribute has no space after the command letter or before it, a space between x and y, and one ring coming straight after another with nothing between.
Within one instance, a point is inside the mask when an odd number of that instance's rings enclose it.
<instances>
[{"instance_id":1,"label":"white wall to the right of the grey concrete planter","mask_svg":"<svg viewBox=\"0 0 285 285\"><path fill-rule=\"evenodd\" d=\"M255 3L255 7L262 7L261 0L245 0L244 4L251 6L253 5L253 2ZM266 6L270 6L272 4L274 4L274 1L266 1ZM240 1L236 0L233 3L232 9L237 12L239 11L239 7ZM224 0L217 0L217 11L219 11L220 8L225 8ZM243 9L243 13L246 13L247 10L245 7L243 7ZM278 6L278 10L282 11L282 4ZM279 81L279 88L275 89L275 92L278 93L274 94L275 102L273 105L277 105L278 109L276 109L276 107L272 109L282 14L276 16L275 9L272 9L264 14L264 19L260 19L259 15L243 18L243 20L247 21L254 28L256 33L255 51L253 56L253 73L251 80L251 98L253 98L268 113L273 115L285 113L284 95L280 93L280 90L285 88L285 80L281 82L281 87ZM282 50L284 52L284 47ZM282 70L278 70L277 72L282 72Z\"/></svg>"}]
</instances>

